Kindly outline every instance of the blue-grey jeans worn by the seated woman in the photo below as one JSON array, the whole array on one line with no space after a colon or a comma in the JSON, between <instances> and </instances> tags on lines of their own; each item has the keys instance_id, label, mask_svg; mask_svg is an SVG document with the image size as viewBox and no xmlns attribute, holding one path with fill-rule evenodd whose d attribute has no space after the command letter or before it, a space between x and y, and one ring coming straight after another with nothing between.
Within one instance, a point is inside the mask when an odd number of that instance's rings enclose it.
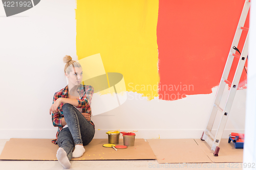
<instances>
[{"instance_id":1,"label":"blue-grey jeans worn by the seated woman","mask_svg":"<svg viewBox=\"0 0 256 170\"><path fill-rule=\"evenodd\" d=\"M94 137L94 126L71 104L62 106L63 115L68 125L58 135L59 147L67 152L69 160L76 144L87 145Z\"/></svg>"}]
</instances>

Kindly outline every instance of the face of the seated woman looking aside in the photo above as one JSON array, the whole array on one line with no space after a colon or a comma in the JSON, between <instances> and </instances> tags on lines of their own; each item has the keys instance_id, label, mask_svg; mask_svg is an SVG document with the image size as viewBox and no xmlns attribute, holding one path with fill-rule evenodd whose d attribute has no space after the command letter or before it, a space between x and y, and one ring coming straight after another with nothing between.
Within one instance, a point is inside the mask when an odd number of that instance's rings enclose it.
<instances>
[{"instance_id":1,"label":"face of the seated woman looking aside","mask_svg":"<svg viewBox=\"0 0 256 170\"><path fill-rule=\"evenodd\" d=\"M73 67L69 74L66 72L65 75L69 80L69 84L79 85L82 81L82 67Z\"/></svg>"}]
</instances>

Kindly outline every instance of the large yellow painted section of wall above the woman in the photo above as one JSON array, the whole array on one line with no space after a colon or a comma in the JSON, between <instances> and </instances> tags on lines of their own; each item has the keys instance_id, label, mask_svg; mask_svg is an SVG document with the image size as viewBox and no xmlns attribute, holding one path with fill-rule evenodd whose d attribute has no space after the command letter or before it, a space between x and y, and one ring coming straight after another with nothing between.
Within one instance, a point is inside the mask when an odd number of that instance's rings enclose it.
<instances>
[{"instance_id":1,"label":"large yellow painted section of wall above the woman","mask_svg":"<svg viewBox=\"0 0 256 170\"><path fill-rule=\"evenodd\" d=\"M77 0L78 59L100 53L105 71L122 74L127 91L158 96L158 4Z\"/></svg>"}]
</instances>

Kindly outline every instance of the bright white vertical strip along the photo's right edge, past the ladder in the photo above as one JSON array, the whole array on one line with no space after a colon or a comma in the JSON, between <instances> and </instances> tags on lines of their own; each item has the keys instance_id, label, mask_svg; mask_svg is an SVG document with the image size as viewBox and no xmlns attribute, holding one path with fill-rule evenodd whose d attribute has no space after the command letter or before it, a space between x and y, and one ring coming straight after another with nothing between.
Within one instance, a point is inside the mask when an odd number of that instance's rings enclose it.
<instances>
[{"instance_id":1,"label":"bright white vertical strip along the photo's right edge, past the ladder","mask_svg":"<svg viewBox=\"0 0 256 170\"><path fill-rule=\"evenodd\" d=\"M250 8L250 33L248 56L248 89L246 98L245 141L244 141L244 169L248 165L256 167L256 2L251 1ZM250 164L249 164L250 163ZM247 168L245 168L247 167Z\"/></svg>"}]
</instances>

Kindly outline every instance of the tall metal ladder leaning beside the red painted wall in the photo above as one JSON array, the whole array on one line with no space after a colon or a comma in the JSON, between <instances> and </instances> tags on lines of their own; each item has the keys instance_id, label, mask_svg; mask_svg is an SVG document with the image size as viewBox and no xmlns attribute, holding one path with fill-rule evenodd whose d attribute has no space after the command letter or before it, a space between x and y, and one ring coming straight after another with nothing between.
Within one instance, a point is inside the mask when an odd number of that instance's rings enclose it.
<instances>
[{"instance_id":1,"label":"tall metal ladder leaning beside the red painted wall","mask_svg":"<svg viewBox=\"0 0 256 170\"><path fill-rule=\"evenodd\" d=\"M217 94L216 94L216 97L215 97L214 105L212 106L212 109L211 109L208 124L207 124L207 127L206 127L205 131L202 134L202 137L201 137L201 140L205 140L209 144L209 146L211 147L211 150L215 151L214 152L215 156L218 156L218 153L219 153L219 150L220 150L219 144L220 144L220 141L221 141L221 137L222 137L222 134L224 132L224 128L226 126L228 115L230 114L230 109L231 109L231 106L232 106L232 103L233 103L233 100L234 100L234 96L236 95L238 84L239 84L239 81L240 81L240 78L241 78L241 75L242 75L242 71L243 71L243 68L244 68L244 64L245 64L245 61L246 61L246 58L247 58L247 55L248 55L249 28L245 28L244 23L245 23L249 8L250 8L250 0L246 0L245 4L244 4L244 7L243 7L241 17L240 17L240 20L239 20L239 23L238 23L238 28L237 28L236 34L234 35L234 39L233 39L233 42L232 42L232 45L231 45L231 48L230 48L230 52L228 54L228 58L227 58L227 61L226 61L226 65L225 65L223 74L222 74L220 85L219 85L219 88L218 88L218 91L217 91ZM248 31L248 33L247 33L247 37L246 37L246 40L245 40L245 43L244 43L242 54L238 55L238 54L236 54L236 51L239 52L239 50L237 49L237 46L238 46L238 43L239 43L239 40L240 40L240 37L241 37L241 34L242 34L243 30ZM238 63L237 69L236 69L236 73L234 74L233 81L231 83L231 82L227 81L227 78L228 78L229 71L230 71L230 68L231 68L234 57L239 59L239 63ZM220 102L221 102L221 99L222 99L222 94L223 94L223 91L224 91L224 88L225 88L226 84L230 85L230 90L229 90L228 97L227 97L227 100L226 100L226 103L225 103L225 107L223 109L219 105L220 105ZM220 120L220 123L219 123L217 133L214 136L212 134L211 130L212 130L212 126L214 125L214 122L215 122L215 119L216 119L216 114L217 114L218 110L222 112L222 116L221 116L221 120Z\"/></svg>"}]
</instances>

